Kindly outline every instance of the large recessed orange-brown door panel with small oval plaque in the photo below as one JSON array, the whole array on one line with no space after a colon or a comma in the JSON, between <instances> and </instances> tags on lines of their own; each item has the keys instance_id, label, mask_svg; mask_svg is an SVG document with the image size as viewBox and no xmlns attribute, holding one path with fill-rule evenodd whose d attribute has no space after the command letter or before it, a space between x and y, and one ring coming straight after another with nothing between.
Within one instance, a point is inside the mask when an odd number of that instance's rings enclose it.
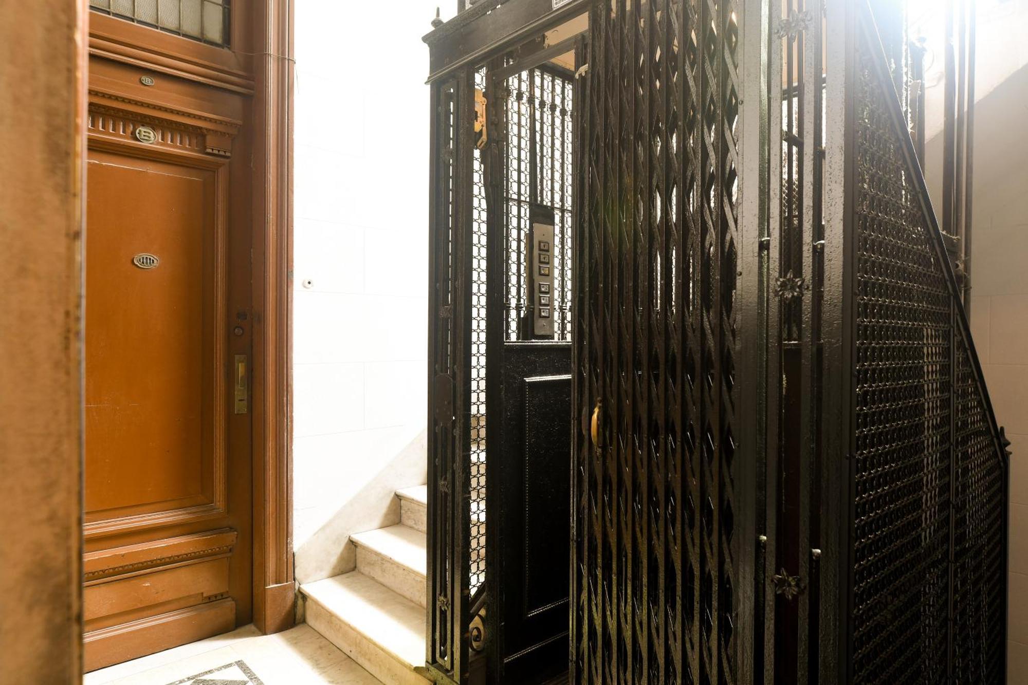
<instances>
[{"instance_id":1,"label":"large recessed orange-brown door panel with small oval plaque","mask_svg":"<svg viewBox=\"0 0 1028 685\"><path fill-rule=\"evenodd\" d=\"M213 504L224 462L214 173L90 156L85 519ZM137 254L159 261L141 268Z\"/></svg>"}]
</instances>

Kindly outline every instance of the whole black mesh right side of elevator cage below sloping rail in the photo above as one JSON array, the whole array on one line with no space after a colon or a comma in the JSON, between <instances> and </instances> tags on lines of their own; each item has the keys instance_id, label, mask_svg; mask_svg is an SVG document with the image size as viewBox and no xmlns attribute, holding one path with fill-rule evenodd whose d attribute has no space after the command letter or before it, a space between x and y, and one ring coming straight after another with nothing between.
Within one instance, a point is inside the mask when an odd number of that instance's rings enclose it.
<instances>
[{"instance_id":1,"label":"whole black mesh right side of elevator cage below sloping rail","mask_svg":"<svg viewBox=\"0 0 1028 685\"><path fill-rule=\"evenodd\" d=\"M852 682L1001 683L1005 455L866 8L852 64Z\"/></svg>"}]
</instances>

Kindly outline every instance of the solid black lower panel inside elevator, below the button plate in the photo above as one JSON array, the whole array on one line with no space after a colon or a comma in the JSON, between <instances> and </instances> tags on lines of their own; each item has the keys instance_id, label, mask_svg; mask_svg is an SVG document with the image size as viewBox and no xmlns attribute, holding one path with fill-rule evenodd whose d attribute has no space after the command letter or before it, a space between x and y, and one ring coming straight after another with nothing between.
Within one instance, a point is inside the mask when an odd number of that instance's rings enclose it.
<instances>
[{"instance_id":1,"label":"solid black lower panel inside elevator, below the button plate","mask_svg":"<svg viewBox=\"0 0 1028 685\"><path fill-rule=\"evenodd\" d=\"M503 486L490 520L501 550L503 682L541 682L567 668L571 362L566 342L508 342L498 365L492 464Z\"/></svg>"}]
</instances>

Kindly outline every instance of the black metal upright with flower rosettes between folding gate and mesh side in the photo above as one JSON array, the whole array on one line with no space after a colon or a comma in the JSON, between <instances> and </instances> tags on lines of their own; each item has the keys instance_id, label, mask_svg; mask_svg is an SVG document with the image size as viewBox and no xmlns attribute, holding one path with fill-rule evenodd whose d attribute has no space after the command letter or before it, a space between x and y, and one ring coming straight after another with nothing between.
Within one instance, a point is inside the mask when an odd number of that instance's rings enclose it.
<instances>
[{"instance_id":1,"label":"black metal upright with flower rosettes between folding gate and mesh side","mask_svg":"<svg viewBox=\"0 0 1028 685\"><path fill-rule=\"evenodd\" d=\"M778 3L776 3L778 4ZM820 659L823 362L823 3L785 0L770 12L766 333L767 406L755 454L761 473L755 568L755 682L816 682ZM743 179L744 192L747 180ZM745 384L745 381L742 381ZM748 388L748 384L746 385ZM763 505L763 506L761 506ZM833 619L835 620L835 619Z\"/></svg>"}]
</instances>

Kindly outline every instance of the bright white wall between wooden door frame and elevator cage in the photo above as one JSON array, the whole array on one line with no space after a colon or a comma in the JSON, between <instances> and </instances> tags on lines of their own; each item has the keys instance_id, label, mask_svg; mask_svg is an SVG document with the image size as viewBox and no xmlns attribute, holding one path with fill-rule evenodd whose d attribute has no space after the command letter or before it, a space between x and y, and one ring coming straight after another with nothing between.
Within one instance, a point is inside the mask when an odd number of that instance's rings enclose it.
<instances>
[{"instance_id":1,"label":"bright white wall between wooden door frame and elevator cage","mask_svg":"<svg viewBox=\"0 0 1028 685\"><path fill-rule=\"evenodd\" d=\"M400 0L384 12L374 2L296 2L293 528L300 582L351 570L348 535L397 522L393 492L425 482L429 89L421 36L435 6Z\"/></svg>"}]
</instances>

